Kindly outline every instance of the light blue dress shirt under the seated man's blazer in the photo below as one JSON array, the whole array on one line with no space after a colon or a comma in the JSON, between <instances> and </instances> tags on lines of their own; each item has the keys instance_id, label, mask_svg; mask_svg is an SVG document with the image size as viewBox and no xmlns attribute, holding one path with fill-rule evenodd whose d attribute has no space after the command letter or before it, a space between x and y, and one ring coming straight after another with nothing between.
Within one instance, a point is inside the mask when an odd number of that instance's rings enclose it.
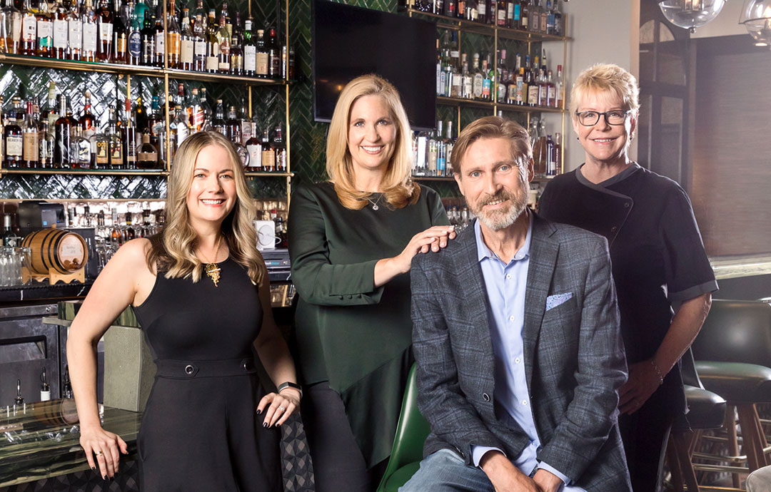
<instances>
[{"instance_id":1,"label":"light blue dress shirt under the seated man's blazer","mask_svg":"<svg viewBox=\"0 0 771 492\"><path fill-rule=\"evenodd\" d=\"M527 433L527 437L530 437L530 444L513 460L514 466L526 475L530 475L536 468L544 468L557 475L567 485L571 482L569 477L549 464L539 463L536 458L540 450L540 440L533 412L530 410L522 339L527 269L530 266L530 241L533 236L533 214L527 214L530 225L527 227L524 245L508 264L503 263L484 243L479 220L474 223L476 252L489 300L487 316L490 320L490 336L495 356L495 412L503 422L516 422ZM503 452L497 447L474 446L472 455L475 466L479 466L483 455L489 450ZM570 490L581 489L570 487Z\"/></svg>"}]
</instances>

